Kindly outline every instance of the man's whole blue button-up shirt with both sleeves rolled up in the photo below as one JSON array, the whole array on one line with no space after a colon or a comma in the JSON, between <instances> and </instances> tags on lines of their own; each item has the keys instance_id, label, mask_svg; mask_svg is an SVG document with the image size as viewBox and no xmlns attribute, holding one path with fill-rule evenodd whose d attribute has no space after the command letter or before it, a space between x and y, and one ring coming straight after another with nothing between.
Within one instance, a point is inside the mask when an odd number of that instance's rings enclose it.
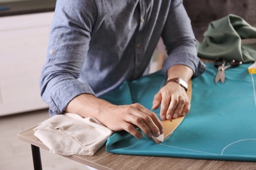
<instances>
[{"instance_id":1,"label":"man's whole blue button-up shirt with both sleeves rolled up","mask_svg":"<svg viewBox=\"0 0 256 170\"><path fill-rule=\"evenodd\" d=\"M99 96L139 78L160 37L168 54L163 74L175 64L203 73L181 0L58 0L40 78L43 100L61 114L81 93Z\"/></svg>"}]
</instances>

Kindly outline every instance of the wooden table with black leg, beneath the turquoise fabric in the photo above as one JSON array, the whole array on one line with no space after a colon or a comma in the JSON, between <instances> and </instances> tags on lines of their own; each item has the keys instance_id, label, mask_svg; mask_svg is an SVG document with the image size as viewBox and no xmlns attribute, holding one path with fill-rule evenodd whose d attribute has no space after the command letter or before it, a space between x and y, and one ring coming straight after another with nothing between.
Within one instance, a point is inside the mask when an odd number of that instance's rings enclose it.
<instances>
[{"instance_id":1,"label":"wooden table with black leg, beneath the turquoise fabric","mask_svg":"<svg viewBox=\"0 0 256 170\"><path fill-rule=\"evenodd\" d=\"M42 169L40 148L49 150L28 129L18 134L18 139L32 144L34 169ZM194 160L183 158L166 158L154 156L130 156L111 154L102 146L94 156L65 156L96 169L256 169L254 162Z\"/></svg>"}]
</instances>

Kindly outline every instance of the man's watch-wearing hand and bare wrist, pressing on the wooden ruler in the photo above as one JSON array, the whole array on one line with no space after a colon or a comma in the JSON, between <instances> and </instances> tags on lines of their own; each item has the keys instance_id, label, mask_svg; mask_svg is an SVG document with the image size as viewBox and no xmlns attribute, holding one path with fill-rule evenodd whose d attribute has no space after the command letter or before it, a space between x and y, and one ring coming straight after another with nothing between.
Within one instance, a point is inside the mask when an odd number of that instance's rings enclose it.
<instances>
[{"instance_id":1,"label":"man's watch-wearing hand and bare wrist, pressing on the wooden ruler","mask_svg":"<svg viewBox=\"0 0 256 170\"><path fill-rule=\"evenodd\" d=\"M168 80L171 78L181 77L190 80L193 75L192 69L185 65L173 65L168 70ZM156 93L153 100L152 109L158 109L161 105L161 120L171 120L179 116L186 116L190 110L190 101L186 91L177 82L169 82Z\"/></svg>"}]
</instances>

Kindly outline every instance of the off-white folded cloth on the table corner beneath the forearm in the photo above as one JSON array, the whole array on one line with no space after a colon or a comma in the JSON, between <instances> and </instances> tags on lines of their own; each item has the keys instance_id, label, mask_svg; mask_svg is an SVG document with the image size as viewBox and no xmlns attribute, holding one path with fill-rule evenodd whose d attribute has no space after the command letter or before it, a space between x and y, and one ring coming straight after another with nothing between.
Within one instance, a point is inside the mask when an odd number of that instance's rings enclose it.
<instances>
[{"instance_id":1,"label":"off-white folded cloth on the table corner beneath the forearm","mask_svg":"<svg viewBox=\"0 0 256 170\"><path fill-rule=\"evenodd\" d=\"M62 156L93 156L113 133L96 118L72 113L55 115L33 130L50 152Z\"/></svg>"}]
</instances>

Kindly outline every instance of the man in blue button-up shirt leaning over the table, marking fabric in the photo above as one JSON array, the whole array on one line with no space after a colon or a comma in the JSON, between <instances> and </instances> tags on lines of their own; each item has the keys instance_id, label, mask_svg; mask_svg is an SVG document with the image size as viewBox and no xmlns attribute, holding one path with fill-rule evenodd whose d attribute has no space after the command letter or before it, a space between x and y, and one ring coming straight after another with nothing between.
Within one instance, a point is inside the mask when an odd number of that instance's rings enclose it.
<instances>
[{"instance_id":1,"label":"man in blue button-up shirt leaning over the table, marking fabric","mask_svg":"<svg viewBox=\"0 0 256 170\"><path fill-rule=\"evenodd\" d=\"M170 81L154 97L152 109L161 106L161 119L171 120L190 109L177 78L188 82L205 69L182 1L57 1L40 79L51 115L72 112L137 138L142 134L136 127L158 137L163 126L154 112L138 103L112 105L98 96L148 73L160 37L168 52L163 74Z\"/></svg>"}]
</instances>

